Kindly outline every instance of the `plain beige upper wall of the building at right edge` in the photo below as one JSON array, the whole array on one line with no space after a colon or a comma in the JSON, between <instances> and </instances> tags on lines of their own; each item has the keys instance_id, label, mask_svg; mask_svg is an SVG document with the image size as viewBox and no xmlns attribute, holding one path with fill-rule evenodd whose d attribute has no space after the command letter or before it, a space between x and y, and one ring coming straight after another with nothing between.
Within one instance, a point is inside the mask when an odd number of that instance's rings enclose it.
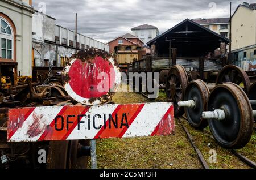
<instances>
[{"instance_id":1,"label":"plain beige upper wall of the building at right edge","mask_svg":"<svg viewBox=\"0 0 256 180\"><path fill-rule=\"evenodd\" d=\"M256 3L239 5L232 15L232 50L256 44Z\"/></svg>"}]
</instances>

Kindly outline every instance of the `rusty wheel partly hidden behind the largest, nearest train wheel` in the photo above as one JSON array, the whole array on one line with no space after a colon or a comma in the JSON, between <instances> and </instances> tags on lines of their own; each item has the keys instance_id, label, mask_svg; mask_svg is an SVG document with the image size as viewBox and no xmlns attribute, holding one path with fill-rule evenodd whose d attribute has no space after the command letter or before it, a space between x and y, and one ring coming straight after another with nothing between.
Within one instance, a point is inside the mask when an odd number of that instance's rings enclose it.
<instances>
[{"instance_id":1,"label":"rusty wheel partly hidden behind the largest, nearest train wheel","mask_svg":"<svg viewBox=\"0 0 256 180\"><path fill-rule=\"evenodd\" d=\"M243 71L241 67L235 65L226 65L221 69L220 72L218 72L216 85L227 82L241 85L241 88L246 94L251 85L250 79L246 72Z\"/></svg>"}]
</instances>

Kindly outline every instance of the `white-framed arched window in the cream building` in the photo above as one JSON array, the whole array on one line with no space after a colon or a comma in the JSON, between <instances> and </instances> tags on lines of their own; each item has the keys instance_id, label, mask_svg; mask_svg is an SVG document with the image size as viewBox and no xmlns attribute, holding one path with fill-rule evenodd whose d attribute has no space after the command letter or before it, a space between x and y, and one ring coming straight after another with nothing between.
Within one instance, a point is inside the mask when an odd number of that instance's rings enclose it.
<instances>
[{"instance_id":1,"label":"white-framed arched window in the cream building","mask_svg":"<svg viewBox=\"0 0 256 180\"><path fill-rule=\"evenodd\" d=\"M4 59L14 59L14 33L11 25L0 16L0 57Z\"/></svg>"}]
</instances>

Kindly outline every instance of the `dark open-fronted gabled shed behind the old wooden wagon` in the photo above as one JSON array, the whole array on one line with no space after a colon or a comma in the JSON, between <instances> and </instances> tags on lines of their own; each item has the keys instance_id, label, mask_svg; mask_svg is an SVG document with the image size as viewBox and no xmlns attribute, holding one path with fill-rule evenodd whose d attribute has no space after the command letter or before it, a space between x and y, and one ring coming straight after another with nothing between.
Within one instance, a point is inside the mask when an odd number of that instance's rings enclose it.
<instances>
[{"instance_id":1,"label":"dark open-fronted gabled shed behind the old wooden wagon","mask_svg":"<svg viewBox=\"0 0 256 180\"><path fill-rule=\"evenodd\" d=\"M155 45L156 57L169 56L169 41L171 48L177 48L177 57L205 57L209 52L220 48L220 43L229 43L228 38L197 24L190 19L175 25L162 35L147 43Z\"/></svg>"}]
</instances>

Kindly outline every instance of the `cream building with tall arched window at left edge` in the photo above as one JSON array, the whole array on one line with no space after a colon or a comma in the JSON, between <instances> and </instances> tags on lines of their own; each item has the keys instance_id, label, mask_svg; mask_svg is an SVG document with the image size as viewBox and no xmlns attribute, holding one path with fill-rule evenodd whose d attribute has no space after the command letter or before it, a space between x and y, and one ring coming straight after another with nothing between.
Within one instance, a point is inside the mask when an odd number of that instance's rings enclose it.
<instances>
[{"instance_id":1,"label":"cream building with tall arched window at left edge","mask_svg":"<svg viewBox=\"0 0 256 180\"><path fill-rule=\"evenodd\" d=\"M34 13L31 4L29 0L0 0L2 75L17 74L18 71L21 75L31 75L32 14Z\"/></svg>"}]
</instances>

